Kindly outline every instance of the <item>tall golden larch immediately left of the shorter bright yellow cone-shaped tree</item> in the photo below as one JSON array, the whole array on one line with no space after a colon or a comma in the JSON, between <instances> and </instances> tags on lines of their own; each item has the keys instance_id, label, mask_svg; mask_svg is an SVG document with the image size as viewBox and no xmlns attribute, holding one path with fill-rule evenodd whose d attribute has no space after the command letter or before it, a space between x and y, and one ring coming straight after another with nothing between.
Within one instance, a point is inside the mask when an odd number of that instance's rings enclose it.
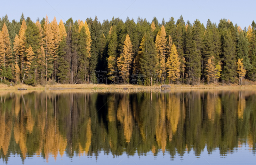
<instances>
[{"instance_id":1,"label":"tall golden larch immediately left of the shorter bright yellow cone-shaped tree","mask_svg":"<svg viewBox=\"0 0 256 165\"><path fill-rule=\"evenodd\" d=\"M166 56L166 32L164 25L162 25L161 29L157 32L156 35L156 54L159 59L160 69L158 77L161 80L161 83L164 82L165 79L165 56Z\"/></svg>"}]
</instances>

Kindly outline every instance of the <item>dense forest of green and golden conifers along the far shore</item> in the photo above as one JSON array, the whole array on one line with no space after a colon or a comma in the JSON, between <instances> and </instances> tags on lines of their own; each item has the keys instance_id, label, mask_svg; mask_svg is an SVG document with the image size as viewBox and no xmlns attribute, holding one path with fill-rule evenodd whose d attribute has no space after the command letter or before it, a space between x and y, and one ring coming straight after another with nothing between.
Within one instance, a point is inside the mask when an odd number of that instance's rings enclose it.
<instances>
[{"instance_id":1,"label":"dense forest of green and golden conifers along the far shore","mask_svg":"<svg viewBox=\"0 0 256 165\"><path fill-rule=\"evenodd\" d=\"M22 13L0 19L1 83L211 84L256 81L256 23L242 29L225 18L218 25L180 16L159 22L119 18L59 24ZM143 71L143 76L136 75ZM120 81L121 80L121 81ZM133 81L132 81L133 80Z\"/></svg>"}]
</instances>

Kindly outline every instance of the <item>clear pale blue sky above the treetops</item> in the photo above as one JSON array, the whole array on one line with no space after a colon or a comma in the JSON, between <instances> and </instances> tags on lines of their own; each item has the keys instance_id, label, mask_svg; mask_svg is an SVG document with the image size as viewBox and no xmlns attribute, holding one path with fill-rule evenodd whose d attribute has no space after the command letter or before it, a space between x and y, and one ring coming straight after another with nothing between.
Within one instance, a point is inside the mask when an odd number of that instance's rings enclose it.
<instances>
[{"instance_id":1,"label":"clear pale blue sky above the treetops","mask_svg":"<svg viewBox=\"0 0 256 165\"><path fill-rule=\"evenodd\" d=\"M146 18L151 22L155 16L159 22L164 18L168 21L170 17L177 20L182 14L185 22L191 23L199 19L206 24L208 18L218 24L221 18L231 20L242 28L248 27L252 20L255 20L256 1L237 0L108 0L108 1L77 1L77 0L23 0L23 1L3 1L1 2L0 16L8 15L9 20L20 20L21 13L31 20L40 20L48 15L49 20L56 16L57 21L64 22L72 17L73 20L85 20L87 17L98 20L111 20L112 17L119 17L125 21L127 16L135 21L138 16Z\"/></svg>"}]
</instances>

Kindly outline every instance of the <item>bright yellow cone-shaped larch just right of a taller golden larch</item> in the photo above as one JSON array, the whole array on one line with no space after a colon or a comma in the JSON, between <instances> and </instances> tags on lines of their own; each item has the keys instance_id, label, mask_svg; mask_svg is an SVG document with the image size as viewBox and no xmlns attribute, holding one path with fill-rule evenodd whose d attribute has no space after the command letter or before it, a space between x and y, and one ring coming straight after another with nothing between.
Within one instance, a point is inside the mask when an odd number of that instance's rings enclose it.
<instances>
[{"instance_id":1,"label":"bright yellow cone-shaped larch just right of a taller golden larch","mask_svg":"<svg viewBox=\"0 0 256 165\"><path fill-rule=\"evenodd\" d=\"M170 55L167 59L167 70L168 70L168 80L174 84L174 81L180 77L180 58L176 49L176 46L172 44Z\"/></svg>"}]
</instances>

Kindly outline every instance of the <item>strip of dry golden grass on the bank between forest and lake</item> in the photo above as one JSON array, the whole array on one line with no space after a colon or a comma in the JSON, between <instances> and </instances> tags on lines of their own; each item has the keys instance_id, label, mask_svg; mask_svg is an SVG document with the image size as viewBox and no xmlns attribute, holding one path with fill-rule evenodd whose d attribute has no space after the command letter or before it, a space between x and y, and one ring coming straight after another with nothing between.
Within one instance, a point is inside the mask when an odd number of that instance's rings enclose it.
<instances>
[{"instance_id":1,"label":"strip of dry golden grass on the bank between forest and lake","mask_svg":"<svg viewBox=\"0 0 256 165\"><path fill-rule=\"evenodd\" d=\"M176 84L170 84L169 89L256 89L256 82L244 80L243 85L237 85L237 84L211 84L211 85L176 85ZM55 84L55 85L37 85L37 86L30 86L30 85L6 85L6 84L0 84L0 90L18 90L18 88L26 88L28 90L53 90L53 89L102 89L102 88L112 88L112 89L121 89L121 88L128 88L128 89L138 89L138 88L161 88L161 85L153 85L153 86L142 86L142 85L132 85L132 84L124 84L124 85L105 85L105 84Z\"/></svg>"}]
</instances>

